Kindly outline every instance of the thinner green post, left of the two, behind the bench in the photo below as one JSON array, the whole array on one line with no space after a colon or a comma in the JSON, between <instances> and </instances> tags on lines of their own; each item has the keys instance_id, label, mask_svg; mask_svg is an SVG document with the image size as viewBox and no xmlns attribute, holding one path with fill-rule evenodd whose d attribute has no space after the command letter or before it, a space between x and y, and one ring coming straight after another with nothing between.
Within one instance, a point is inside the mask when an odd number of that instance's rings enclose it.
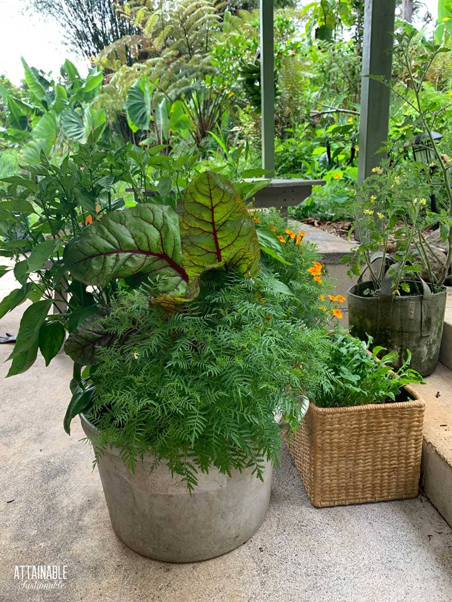
<instances>
[{"instance_id":1,"label":"thinner green post, left of the two, behind the bench","mask_svg":"<svg viewBox=\"0 0 452 602\"><path fill-rule=\"evenodd\" d=\"M273 0L260 0L260 95L262 167L273 173L275 169Z\"/></svg>"}]
</instances>

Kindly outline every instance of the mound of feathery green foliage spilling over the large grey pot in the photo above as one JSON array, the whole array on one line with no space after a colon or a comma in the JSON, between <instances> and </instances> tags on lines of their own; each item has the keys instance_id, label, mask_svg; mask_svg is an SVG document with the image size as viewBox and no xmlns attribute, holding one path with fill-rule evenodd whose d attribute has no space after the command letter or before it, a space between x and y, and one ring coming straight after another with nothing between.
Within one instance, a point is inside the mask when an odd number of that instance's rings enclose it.
<instances>
[{"instance_id":1,"label":"mound of feathery green foliage spilling over the large grey pot","mask_svg":"<svg viewBox=\"0 0 452 602\"><path fill-rule=\"evenodd\" d=\"M274 414L296 429L300 391L318 380L323 331L303 326L264 275L207 272L198 299L172 315L149 294L120 294L104 320L129 338L99 348L92 370L88 417L101 450L115 445L131 470L150 451L189 488L210 465L262 478L264 459L277 464L280 452Z\"/></svg>"}]
</instances>

